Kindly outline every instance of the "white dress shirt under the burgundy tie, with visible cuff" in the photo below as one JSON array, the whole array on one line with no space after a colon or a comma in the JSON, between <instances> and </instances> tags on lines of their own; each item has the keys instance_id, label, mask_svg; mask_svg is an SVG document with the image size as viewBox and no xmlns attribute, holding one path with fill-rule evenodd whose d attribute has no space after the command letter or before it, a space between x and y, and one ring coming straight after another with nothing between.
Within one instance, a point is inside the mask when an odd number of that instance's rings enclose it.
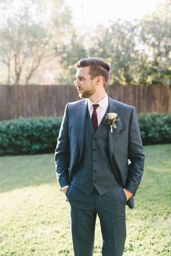
<instances>
[{"instance_id":1,"label":"white dress shirt under the burgundy tie, with visible cuff","mask_svg":"<svg viewBox=\"0 0 171 256\"><path fill-rule=\"evenodd\" d=\"M87 100L87 103L88 103L88 111L89 111L90 116L91 116L93 114L93 104L95 104L95 103L91 102L90 99ZM107 107L108 107L108 104L109 104L109 99L108 99L107 94L105 93L104 98L101 99L99 102L96 102L96 104L99 104L99 107L97 107L97 109L96 109L98 126L99 126L100 123L101 123L101 120L104 117L104 114L107 111ZM64 186L61 190L63 191L64 189L67 189L67 188L68 188L68 186Z\"/></svg>"}]
</instances>

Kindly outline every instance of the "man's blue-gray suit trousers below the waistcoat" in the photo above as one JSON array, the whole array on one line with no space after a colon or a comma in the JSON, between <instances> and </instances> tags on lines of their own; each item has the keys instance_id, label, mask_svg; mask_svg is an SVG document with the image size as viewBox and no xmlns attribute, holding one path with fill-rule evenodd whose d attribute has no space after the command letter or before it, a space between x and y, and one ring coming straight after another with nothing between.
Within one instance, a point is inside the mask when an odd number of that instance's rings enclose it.
<instances>
[{"instance_id":1,"label":"man's blue-gray suit trousers below the waistcoat","mask_svg":"<svg viewBox=\"0 0 171 256\"><path fill-rule=\"evenodd\" d=\"M122 256L125 246L125 192L114 186L100 195L96 189L87 195L70 184L66 194L70 203L72 243L75 256L93 256L96 215L101 225L103 256Z\"/></svg>"}]
</instances>

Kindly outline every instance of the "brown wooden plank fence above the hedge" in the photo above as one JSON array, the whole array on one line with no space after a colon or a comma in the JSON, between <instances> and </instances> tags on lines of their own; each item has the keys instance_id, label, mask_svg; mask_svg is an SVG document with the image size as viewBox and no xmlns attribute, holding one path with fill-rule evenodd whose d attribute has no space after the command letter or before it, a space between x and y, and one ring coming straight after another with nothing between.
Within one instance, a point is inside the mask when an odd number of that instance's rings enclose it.
<instances>
[{"instance_id":1,"label":"brown wooden plank fence above the hedge","mask_svg":"<svg viewBox=\"0 0 171 256\"><path fill-rule=\"evenodd\" d=\"M138 113L171 112L169 86L108 86L107 94ZM0 120L63 115L65 104L78 99L74 86L0 86Z\"/></svg>"}]
</instances>

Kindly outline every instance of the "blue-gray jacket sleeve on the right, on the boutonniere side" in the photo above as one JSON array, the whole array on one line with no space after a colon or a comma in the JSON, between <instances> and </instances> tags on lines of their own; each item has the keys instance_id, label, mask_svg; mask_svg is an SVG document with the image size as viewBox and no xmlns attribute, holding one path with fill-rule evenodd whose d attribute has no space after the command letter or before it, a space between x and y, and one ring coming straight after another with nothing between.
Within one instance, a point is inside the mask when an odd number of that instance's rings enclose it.
<instances>
[{"instance_id":1,"label":"blue-gray jacket sleeve on the right, on the boutonniere side","mask_svg":"<svg viewBox=\"0 0 171 256\"><path fill-rule=\"evenodd\" d=\"M135 194L143 175L145 155L143 153L141 134L134 107L130 117L128 159L130 160L130 165L128 168L128 179L125 189L128 189L128 191Z\"/></svg>"}]
</instances>

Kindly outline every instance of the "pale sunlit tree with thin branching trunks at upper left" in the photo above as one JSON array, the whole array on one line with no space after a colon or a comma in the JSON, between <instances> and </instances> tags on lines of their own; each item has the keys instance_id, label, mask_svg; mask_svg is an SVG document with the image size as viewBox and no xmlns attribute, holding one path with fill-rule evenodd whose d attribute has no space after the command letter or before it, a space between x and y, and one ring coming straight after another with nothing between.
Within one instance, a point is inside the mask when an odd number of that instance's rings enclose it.
<instances>
[{"instance_id":1,"label":"pale sunlit tree with thin branching trunks at upper left","mask_svg":"<svg viewBox=\"0 0 171 256\"><path fill-rule=\"evenodd\" d=\"M62 0L23 0L17 12L9 14L16 1L7 3L1 9L8 15L0 25L0 62L7 73L4 82L28 84L40 65L62 53L64 42L70 37L64 33L71 27L70 10ZM49 12L47 4L51 4Z\"/></svg>"}]
</instances>

